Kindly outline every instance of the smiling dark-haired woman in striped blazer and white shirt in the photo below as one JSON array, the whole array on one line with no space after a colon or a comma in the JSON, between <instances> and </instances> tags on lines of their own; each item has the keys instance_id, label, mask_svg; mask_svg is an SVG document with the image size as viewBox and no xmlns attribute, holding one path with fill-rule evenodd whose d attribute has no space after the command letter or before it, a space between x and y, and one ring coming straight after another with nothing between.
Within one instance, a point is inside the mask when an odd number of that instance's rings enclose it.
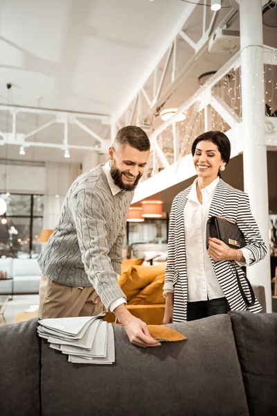
<instances>
[{"instance_id":1,"label":"smiling dark-haired woman in striped blazer and white shirt","mask_svg":"<svg viewBox=\"0 0 277 416\"><path fill-rule=\"evenodd\" d=\"M248 297L244 271L267 253L246 193L226 184L220 175L229 163L231 146L224 133L205 132L192 146L197 179L173 201L168 236L168 263L164 285L164 324L195 320L240 310L260 312L258 300L249 305L238 287L237 275ZM219 239L208 239L211 216L237 223L247 245L229 248Z\"/></svg>"}]
</instances>

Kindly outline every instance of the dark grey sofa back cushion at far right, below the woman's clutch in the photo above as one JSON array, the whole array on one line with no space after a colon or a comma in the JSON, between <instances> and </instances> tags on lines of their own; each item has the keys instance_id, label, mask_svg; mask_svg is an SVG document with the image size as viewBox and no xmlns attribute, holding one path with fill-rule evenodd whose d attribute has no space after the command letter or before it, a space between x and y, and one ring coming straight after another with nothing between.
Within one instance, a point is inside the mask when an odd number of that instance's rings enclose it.
<instances>
[{"instance_id":1,"label":"dark grey sofa back cushion at far right, below the woman's clutch","mask_svg":"<svg viewBox=\"0 0 277 416\"><path fill-rule=\"evenodd\" d=\"M277 415L277 313L229 314L249 413Z\"/></svg>"}]
</instances>

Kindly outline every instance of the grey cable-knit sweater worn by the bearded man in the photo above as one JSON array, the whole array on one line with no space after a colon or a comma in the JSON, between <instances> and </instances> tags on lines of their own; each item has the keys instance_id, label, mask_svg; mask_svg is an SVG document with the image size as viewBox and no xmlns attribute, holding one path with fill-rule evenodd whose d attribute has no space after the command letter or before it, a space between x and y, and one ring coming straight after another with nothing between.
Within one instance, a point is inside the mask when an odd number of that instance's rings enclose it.
<instances>
[{"instance_id":1,"label":"grey cable-knit sweater worn by the bearded man","mask_svg":"<svg viewBox=\"0 0 277 416\"><path fill-rule=\"evenodd\" d=\"M107 308L125 297L117 283L125 221L134 192L112 195L102 165L71 185L59 223L38 263L59 284L93 286Z\"/></svg>"}]
</instances>

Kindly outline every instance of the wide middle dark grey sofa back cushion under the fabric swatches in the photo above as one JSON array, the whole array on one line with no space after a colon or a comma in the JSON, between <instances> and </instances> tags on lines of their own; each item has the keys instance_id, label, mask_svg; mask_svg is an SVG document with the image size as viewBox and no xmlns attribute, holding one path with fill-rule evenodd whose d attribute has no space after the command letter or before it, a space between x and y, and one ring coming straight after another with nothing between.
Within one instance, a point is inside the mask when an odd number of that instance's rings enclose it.
<instances>
[{"instance_id":1,"label":"wide middle dark grey sofa back cushion under the fabric swatches","mask_svg":"<svg viewBox=\"0 0 277 416\"><path fill-rule=\"evenodd\" d=\"M42 340L44 416L249 415L229 315L172 328L188 339L141 349L114 325L114 365L74 365Z\"/></svg>"}]
</instances>

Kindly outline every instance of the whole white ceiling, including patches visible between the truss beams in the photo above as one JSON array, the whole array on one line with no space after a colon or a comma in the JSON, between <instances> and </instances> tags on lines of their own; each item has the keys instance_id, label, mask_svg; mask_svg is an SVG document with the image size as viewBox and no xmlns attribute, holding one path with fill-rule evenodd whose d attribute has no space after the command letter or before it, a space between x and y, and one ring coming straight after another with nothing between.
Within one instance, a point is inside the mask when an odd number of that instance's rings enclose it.
<instances>
[{"instance_id":1,"label":"whole white ceiling, including patches visible between the truss beams","mask_svg":"<svg viewBox=\"0 0 277 416\"><path fill-rule=\"evenodd\" d=\"M172 32L189 3L181 0L0 0L0 104L12 103L57 110L113 114L127 102L145 73L165 51ZM223 0L229 6L229 0ZM222 14L229 9L222 10ZM199 39L202 6L195 9L186 33ZM207 17L211 16L207 8ZM182 60L192 51L183 42ZM206 55L186 74L175 106L197 89L200 73L216 70L228 59ZM12 84L9 90L7 83ZM8 112L0 111L0 131L12 129ZM19 114L17 131L26 133L51 116ZM98 135L109 139L109 127L85 121ZM37 133L33 141L62 144L62 125ZM69 144L95 146L97 141L69 125ZM0 146L0 158L82 162L86 150L71 150L64 159L60 149Z\"/></svg>"}]
</instances>

